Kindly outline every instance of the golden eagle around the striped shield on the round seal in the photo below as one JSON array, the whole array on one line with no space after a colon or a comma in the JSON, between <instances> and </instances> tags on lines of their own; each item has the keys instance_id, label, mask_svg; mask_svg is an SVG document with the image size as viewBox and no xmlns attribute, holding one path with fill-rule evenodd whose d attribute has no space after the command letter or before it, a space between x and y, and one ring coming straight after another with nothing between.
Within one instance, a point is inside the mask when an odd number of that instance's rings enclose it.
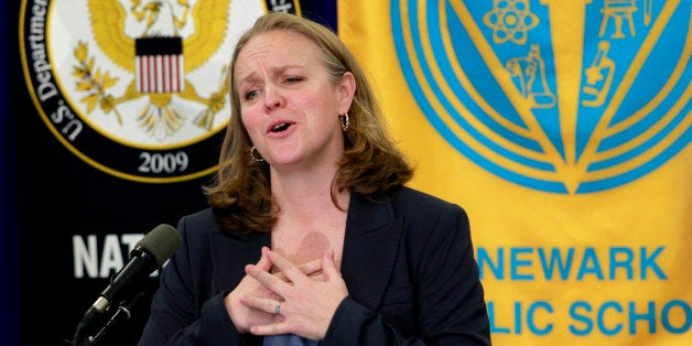
<instances>
[{"instance_id":1,"label":"golden eagle around the striped shield on the round seal","mask_svg":"<svg viewBox=\"0 0 692 346\"><path fill-rule=\"evenodd\" d=\"M117 0L88 0L96 44L116 65L132 75L136 74L136 41L144 37L181 37L185 75L204 65L225 40L229 7L228 0L199 0L192 7L188 0L130 0L129 8ZM134 20L137 28L141 29L140 32L128 33L128 20L130 24ZM187 25L193 25L193 30L186 28ZM187 35L183 37L181 32L186 32ZM89 64L86 57L82 63L83 69L91 68L93 63ZM125 95L113 97L101 93L101 109L109 112L116 110L118 104L145 97L149 102L137 117L139 126L151 136L163 139L179 130L185 121L185 116L173 107L173 96L176 96L205 105L206 110L197 115L193 123L208 131L212 130L214 117L226 104L229 93L228 66L221 69L220 85L209 97L198 95L188 79L184 79L184 87L175 93L141 93L133 79ZM119 121L122 121L121 116L117 115Z\"/></svg>"}]
</instances>

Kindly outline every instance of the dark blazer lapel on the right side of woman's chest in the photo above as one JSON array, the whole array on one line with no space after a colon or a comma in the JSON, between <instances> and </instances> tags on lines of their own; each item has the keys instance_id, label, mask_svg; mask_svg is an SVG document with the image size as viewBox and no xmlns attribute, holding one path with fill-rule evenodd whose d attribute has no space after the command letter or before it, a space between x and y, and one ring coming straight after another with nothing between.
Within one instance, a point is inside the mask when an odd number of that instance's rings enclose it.
<instances>
[{"instance_id":1,"label":"dark blazer lapel on the right side of woman's chest","mask_svg":"<svg viewBox=\"0 0 692 346\"><path fill-rule=\"evenodd\" d=\"M391 203L353 193L346 219L342 275L349 295L376 311L389 283L401 239Z\"/></svg>"}]
</instances>

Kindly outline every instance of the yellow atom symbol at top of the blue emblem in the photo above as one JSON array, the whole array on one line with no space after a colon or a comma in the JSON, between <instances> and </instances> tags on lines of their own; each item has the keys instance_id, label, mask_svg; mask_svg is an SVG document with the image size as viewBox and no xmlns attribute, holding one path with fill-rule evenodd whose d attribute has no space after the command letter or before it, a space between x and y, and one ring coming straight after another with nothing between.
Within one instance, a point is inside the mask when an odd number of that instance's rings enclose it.
<instances>
[{"instance_id":1,"label":"yellow atom symbol at top of the blue emblem","mask_svg":"<svg viewBox=\"0 0 692 346\"><path fill-rule=\"evenodd\" d=\"M528 0L495 0L493 11L483 17L483 22L493 29L495 43L525 44L527 32L538 25L539 19L531 13Z\"/></svg>"}]
</instances>

